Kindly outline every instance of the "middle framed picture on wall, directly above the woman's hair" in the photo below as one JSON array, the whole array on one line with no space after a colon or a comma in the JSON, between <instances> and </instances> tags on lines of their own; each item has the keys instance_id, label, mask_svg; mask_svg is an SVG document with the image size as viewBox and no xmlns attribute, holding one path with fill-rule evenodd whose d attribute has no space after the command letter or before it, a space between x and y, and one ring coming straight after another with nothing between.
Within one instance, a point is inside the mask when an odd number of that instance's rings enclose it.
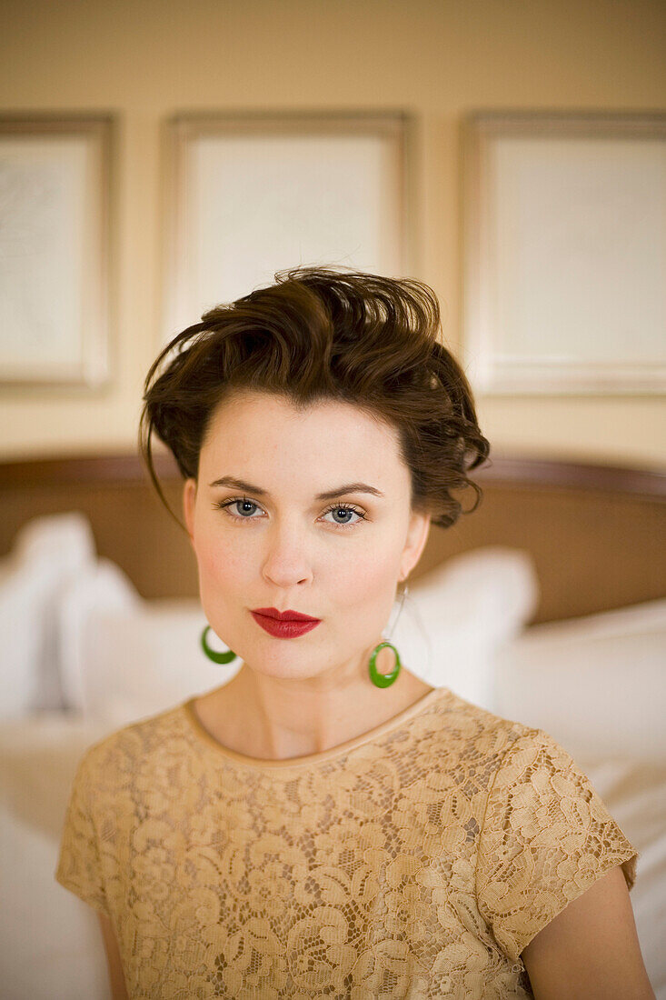
<instances>
[{"instance_id":1,"label":"middle framed picture on wall, directly above the woman's hair","mask_svg":"<svg viewBox=\"0 0 666 1000\"><path fill-rule=\"evenodd\" d=\"M164 342L290 267L406 274L409 125L402 112L172 118Z\"/></svg>"}]
</instances>

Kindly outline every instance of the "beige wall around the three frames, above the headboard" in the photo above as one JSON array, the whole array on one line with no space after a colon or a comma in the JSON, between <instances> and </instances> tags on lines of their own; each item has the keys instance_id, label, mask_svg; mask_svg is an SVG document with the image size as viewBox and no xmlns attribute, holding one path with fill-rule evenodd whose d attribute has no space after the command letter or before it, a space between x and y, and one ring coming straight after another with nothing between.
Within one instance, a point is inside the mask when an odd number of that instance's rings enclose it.
<instances>
[{"instance_id":1,"label":"beige wall around the three frames, above the headboard","mask_svg":"<svg viewBox=\"0 0 666 1000\"><path fill-rule=\"evenodd\" d=\"M103 110L120 119L114 379L92 394L3 388L4 458L135 447L142 382L159 349L165 116L226 108L415 112L418 276L439 296L455 347L461 115L666 105L663 0L2 0L0 18L0 112ZM497 453L666 467L666 398L477 403Z\"/></svg>"}]
</instances>

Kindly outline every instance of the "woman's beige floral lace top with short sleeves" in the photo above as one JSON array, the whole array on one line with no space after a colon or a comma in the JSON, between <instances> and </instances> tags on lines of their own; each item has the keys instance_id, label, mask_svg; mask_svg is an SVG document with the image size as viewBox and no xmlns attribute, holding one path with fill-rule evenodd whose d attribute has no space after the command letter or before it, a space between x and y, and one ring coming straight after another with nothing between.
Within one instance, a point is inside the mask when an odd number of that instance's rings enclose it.
<instances>
[{"instance_id":1,"label":"woman's beige floral lace top with short sleeves","mask_svg":"<svg viewBox=\"0 0 666 1000\"><path fill-rule=\"evenodd\" d=\"M57 881L131 998L531 997L520 953L637 852L548 733L436 688L332 750L229 750L190 699L79 762ZM100 939L101 940L101 939Z\"/></svg>"}]
</instances>

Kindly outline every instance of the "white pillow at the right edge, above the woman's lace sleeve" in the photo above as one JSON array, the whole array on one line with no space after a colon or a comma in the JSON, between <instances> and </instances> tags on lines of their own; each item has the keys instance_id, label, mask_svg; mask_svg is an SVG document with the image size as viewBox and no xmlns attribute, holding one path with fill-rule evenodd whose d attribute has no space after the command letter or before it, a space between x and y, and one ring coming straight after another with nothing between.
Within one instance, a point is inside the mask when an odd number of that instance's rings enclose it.
<instances>
[{"instance_id":1,"label":"white pillow at the right edge, above the woman's lace sleeve","mask_svg":"<svg viewBox=\"0 0 666 1000\"><path fill-rule=\"evenodd\" d=\"M666 757L666 599L533 625L495 668L494 711L577 760Z\"/></svg>"}]
</instances>

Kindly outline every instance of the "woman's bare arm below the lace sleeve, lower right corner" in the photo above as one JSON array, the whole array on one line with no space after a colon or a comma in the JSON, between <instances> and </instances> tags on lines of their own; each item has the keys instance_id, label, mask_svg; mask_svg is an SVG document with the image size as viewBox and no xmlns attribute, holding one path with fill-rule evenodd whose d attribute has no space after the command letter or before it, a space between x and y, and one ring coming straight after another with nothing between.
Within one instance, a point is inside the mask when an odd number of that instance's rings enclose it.
<instances>
[{"instance_id":1,"label":"woman's bare arm below the lace sleeve, lower right corner","mask_svg":"<svg viewBox=\"0 0 666 1000\"><path fill-rule=\"evenodd\" d=\"M535 1000L655 1000L621 865L573 899L521 958Z\"/></svg>"}]
</instances>

